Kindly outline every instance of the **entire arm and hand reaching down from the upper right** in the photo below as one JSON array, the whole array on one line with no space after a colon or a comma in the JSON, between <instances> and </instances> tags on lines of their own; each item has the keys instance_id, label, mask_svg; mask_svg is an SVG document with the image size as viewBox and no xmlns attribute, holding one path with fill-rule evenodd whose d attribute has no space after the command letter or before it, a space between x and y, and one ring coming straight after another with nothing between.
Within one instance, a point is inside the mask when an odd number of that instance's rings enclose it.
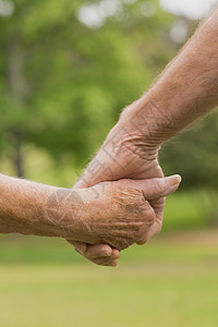
<instances>
[{"instance_id":1,"label":"entire arm and hand reaching down from the upper right","mask_svg":"<svg viewBox=\"0 0 218 327\"><path fill-rule=\"evenodd\" d=\"M162 175L157 161L160 146L218 106L218 56L214 41L217 33L218 8L150 89L122 112L77 187L121 178ZM156 204L160 211L164 205L164 199ZM74 243L74 246L86 254L95 252L99 257L106 249L112 253L108 245L87 249L87 244Z\"/></svg>"}]
</instances>

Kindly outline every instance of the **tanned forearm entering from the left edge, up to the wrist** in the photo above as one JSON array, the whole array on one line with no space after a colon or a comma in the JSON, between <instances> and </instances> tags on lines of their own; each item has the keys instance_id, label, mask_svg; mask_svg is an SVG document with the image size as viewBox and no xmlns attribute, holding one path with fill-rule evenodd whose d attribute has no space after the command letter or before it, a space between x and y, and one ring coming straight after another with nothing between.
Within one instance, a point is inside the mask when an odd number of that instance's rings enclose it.
<instances>
[{"instance_id":1,"label":"tanned forearm entering from the left edge, up to the wrist","mask_svg":"<svg viewBox=\"0 0 218 327\"><path fill-rule=\"evenodd\" d=\"M47 203L58 189L0 174L0 232L60 235L47 214Z\"/></svg>"}]
</instances>

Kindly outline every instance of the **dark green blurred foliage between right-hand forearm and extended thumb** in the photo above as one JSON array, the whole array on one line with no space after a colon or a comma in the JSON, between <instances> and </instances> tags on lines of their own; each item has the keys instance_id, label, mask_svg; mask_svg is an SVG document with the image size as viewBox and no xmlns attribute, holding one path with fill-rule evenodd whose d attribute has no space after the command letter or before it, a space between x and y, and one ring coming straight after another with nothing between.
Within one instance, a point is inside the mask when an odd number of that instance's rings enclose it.
<instances>
[{"instance_id":1,"label":"dark green blurred foliage between right-hand forearm and extended thumb","mask_svg":"<svg viewBox=\"0 0 218 327\"><path fill-rule=\"evenodd\" d=\"M181 173L183 186L217 187L217 131L218 110L215 110L185 133L170 141L160 155L165 173Z\"/></svg>"}]
</instances>

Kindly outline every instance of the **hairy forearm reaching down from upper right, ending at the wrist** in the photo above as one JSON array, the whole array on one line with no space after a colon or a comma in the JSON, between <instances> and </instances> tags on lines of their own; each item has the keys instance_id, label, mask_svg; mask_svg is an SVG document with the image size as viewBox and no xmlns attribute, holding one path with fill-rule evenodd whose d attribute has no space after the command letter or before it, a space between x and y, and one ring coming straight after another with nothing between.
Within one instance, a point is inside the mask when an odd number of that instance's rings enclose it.
<instances>
[{"instance_id":1,"label":"hairy forearm reaching down from upper right, ending at the wrist","mask_svg":"<svg viewBox=\"0 0 218 327\"><path fill-rule=\"evenodd\" d=\"M218 105L218 10L138 101L124 110L147 142L160 145Z\"/></svg>"}]
</instances>

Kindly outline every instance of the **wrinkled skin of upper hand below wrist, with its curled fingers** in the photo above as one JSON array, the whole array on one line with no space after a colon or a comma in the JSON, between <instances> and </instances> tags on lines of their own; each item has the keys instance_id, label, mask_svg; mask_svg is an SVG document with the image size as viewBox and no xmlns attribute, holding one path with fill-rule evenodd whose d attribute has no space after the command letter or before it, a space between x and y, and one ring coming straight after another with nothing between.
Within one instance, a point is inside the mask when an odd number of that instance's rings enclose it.
<instances>
[{"instance_id":1,"label":"wrinkled skin of upper hand below wrist, with its curled fingers","mask_svg":"<svg viewBox=\"0 0 218 327\"><path fill-rule=\"evenodd\" d=\"M101 181L122 178L138 180L164 177L157 160L158 147L147 146L141 140L141 136L136 136L136 134L131 135L129 133L126 135L125 132L122 132L122 135L118 135L119 130L122 130L120 124L111 130L102 147L76 183L76 187L87 187ZM114 141L114 148L111 146L110 140ZM94 175L89 167L93 167L95 162L104 162L105 165ZM146 241L161 230L165 196L159 196L155 201L150 199L149 203L158 215L158 221L145 234ZM109 263L116 265L117 259L120 257L120 253L108 244L88 245L72 241L71 243L77 252L96 264L100 262L102 265L108 265ZM106 256L106 253L108 256Z\"/></svg>"}]
</instances>

